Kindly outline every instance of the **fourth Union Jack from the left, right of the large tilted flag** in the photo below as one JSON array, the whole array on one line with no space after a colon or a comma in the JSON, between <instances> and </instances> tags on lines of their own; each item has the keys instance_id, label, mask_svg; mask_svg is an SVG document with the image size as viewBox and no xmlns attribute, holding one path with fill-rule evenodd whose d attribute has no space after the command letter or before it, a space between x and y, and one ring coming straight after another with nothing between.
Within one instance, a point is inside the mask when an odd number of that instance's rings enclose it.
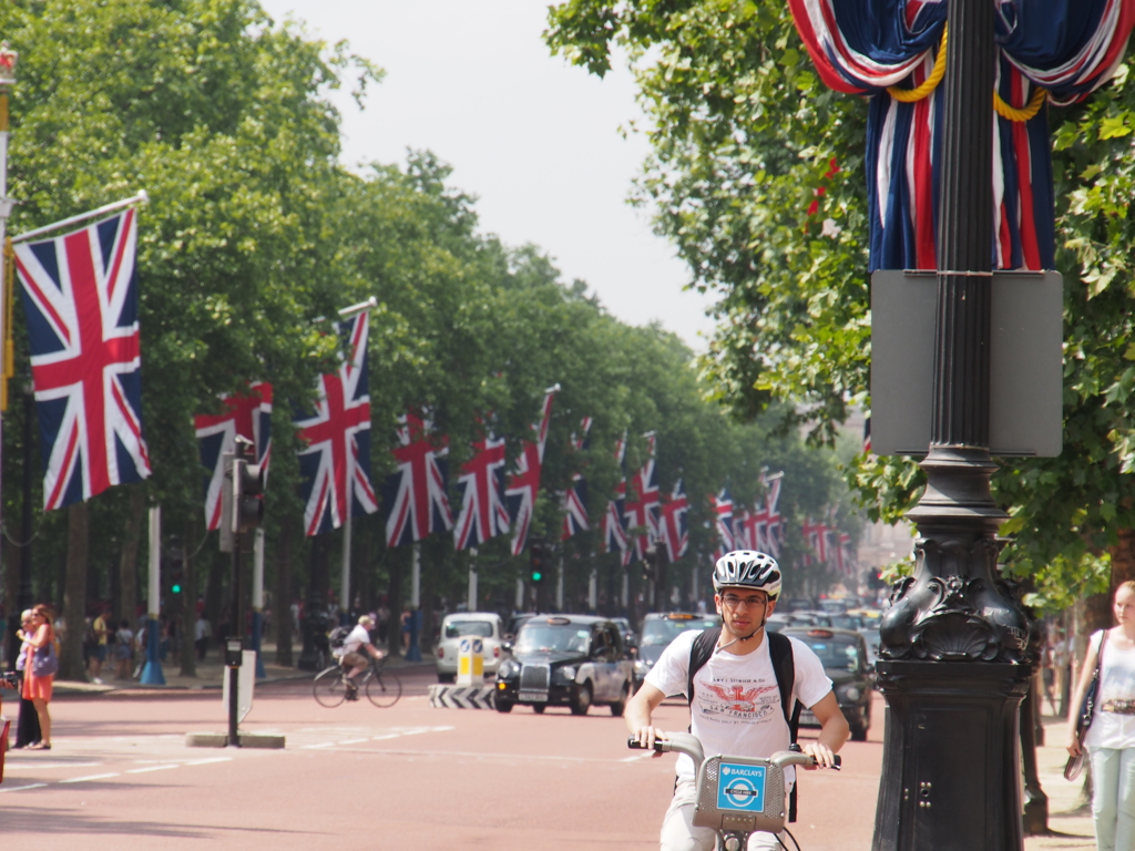
<instances>
[{"instance_id":1,"label":"fourth Union Jack from the left, right of the large tilted flag","mask_svg":"<svg viewBox=\"0 0 1135 851\"><path fill-rule=\"evenodd\" d=\"M382 486L387 547L413 544L431 532L453 529L445 494L448 438L432 438L432 423L414 414L398 418L398 446L390 449L398 472L386 477Z\"/></svg>"}]
</instances>

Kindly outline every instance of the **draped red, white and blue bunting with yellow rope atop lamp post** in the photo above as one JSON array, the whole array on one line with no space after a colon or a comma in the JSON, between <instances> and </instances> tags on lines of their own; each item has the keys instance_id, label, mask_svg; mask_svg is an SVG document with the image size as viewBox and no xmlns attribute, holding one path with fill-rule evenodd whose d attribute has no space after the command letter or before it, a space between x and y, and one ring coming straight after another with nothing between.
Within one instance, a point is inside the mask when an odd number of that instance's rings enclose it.
<instances>
[{"instance_id":1,"label":"draped red, white and blue bunting with yellow rope atop lamp post","mask_svg":"<svg viewBox=\"0 0 1135 851\"><path fill-rule=\"evenodd\" d=\"M819 78L871 94L867 116L868 268L934 269L944 102L932 74L945 61L945 2L789 0ZM997 3L992 140L995 269L1051 269L1053 185L1044 102L1082 101L1123 66L1135 25L1126 0ZM991 57L993 59L993 57ZM897 90L925 89L922 98ZM1026 109L1027 107L1032 109ZM1008 117L1009 110L1023 115Z\"/></svg>"}]
</instances>

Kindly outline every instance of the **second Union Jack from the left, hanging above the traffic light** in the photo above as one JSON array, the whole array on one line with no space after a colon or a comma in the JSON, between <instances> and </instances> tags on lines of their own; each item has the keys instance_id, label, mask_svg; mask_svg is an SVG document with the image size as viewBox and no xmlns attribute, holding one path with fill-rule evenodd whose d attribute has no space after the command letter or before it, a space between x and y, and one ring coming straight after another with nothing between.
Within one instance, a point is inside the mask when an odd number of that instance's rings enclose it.
<instances>
[{"instance_id":1,"label":"second Union Jack from the left, hanging above the traffic light","mask_svg":"<svg viewBox=\"0 0 1135 851\"><path fill-rule=\"evenodd\" d=\"M193 418L201 464L205 477L205 526L220 529L221 487L225 483L225 454L236 449L239 435L252 443L257 463L266 465L271 454L272 386L267 381L250 385L243 393L221 397L224 412Z\"/></svg>"}]
</instances>

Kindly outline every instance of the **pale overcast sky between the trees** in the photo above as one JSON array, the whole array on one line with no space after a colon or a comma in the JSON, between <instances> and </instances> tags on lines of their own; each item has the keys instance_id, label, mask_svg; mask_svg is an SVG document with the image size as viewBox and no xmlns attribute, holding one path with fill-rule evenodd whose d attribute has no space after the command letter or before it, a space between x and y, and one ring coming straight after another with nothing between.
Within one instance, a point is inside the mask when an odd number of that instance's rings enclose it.
<instances>
[{"instance_id":1,"label":"pale overcast sky between the trees","mask_svg":"<svg viewBox=\"0 0 1135 851\"><path fill-rule=\"evenodd\" d=\"M632 325L654 319L705 347L704 296L645 211L627 203L647 153L620 127L641 112L630 74L603 81L549 54L544 0L261 0L309 33L378 64L386 78L360 112L348 90L343 161L404 162L429 149L452 183L477 195L481 229L508 245L535 243L566 280L582 278Z\"/></svg>"}]
</instances>

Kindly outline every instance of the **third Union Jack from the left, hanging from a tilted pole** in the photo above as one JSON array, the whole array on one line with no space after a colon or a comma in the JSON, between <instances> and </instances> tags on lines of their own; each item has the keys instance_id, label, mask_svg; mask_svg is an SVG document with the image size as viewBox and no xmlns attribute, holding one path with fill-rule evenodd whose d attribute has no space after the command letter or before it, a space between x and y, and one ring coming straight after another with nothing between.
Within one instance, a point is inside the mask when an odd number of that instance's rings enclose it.
<instances>
[{"instance_id":1,"label":"third Union Jack from the left, hanging from a tilted pole","mask_svg":"<svg viewBox=\"0 0 1135 851\"><path fill-rule=\"evenodd\" d=\"M295 420L300 452L303 524L309 534L343 525L347 505L353 516L378 511L370 480L370 394L367 384L369 313L337 323L343 363L319 377L316 411Z\"/></svg>"}]
</instances>

